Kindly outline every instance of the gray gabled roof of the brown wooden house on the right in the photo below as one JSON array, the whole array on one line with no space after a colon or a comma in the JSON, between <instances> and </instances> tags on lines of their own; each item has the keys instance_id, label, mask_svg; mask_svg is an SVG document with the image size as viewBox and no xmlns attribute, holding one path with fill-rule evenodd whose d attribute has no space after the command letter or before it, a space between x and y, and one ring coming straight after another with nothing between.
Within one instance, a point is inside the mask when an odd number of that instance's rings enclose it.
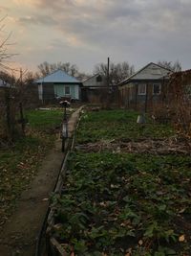
<instances>
[{"instance_id":1,"label":"gray gabled roof of the brown wooden house on the right","mask_svg":"<svg viewBox=\"0 0 191 256\"><path fill-rule=\"evenodd\" d=\"M138 72L136 72L126 80L119 82L119 84L125 84L129 81L160 80L172 73L173 73L172 70L162 67L153 62L150 62L149 64L147 64L146 66L138 70Z\"/></svg>"}]
</instances>

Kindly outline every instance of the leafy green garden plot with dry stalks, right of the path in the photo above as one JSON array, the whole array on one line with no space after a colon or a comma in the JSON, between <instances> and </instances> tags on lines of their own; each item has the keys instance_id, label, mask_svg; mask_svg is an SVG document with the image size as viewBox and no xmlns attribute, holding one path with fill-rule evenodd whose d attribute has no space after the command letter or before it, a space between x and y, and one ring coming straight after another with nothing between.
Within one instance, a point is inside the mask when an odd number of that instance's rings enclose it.
<instances>
[{"instance_id":1,"label":"leafy green garden plot with dry stalks, right of the path","mask_svg":"<svg viewBox=\"0 0 191 256\"><path fill-rule=\"evenodd\" d=\"M171 125L137 117L82 115L52 197L53 237L66 255L191 255L190 144Z\"/></svg>"}]
</instances>

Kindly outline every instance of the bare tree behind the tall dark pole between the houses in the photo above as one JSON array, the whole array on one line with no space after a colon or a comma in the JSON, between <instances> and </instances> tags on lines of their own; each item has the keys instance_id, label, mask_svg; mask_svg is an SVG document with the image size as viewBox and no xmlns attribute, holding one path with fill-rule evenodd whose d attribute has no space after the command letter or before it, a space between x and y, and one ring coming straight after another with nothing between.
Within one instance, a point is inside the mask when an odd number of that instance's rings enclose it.
<instances>
[{"instance_id":1,"label":"bare tree behind the tall dark pole between the houses","mask_svg":"<svg viewBox=\"0 0 191 256\"><path fill-rule=\"evenodd\" d=\"M109 83L117 84L119 81L122 81L132 74L134 74L135 69L133 65L130 65L128 62L114 62L110 63L110 72L109 72ZM106 63L96 64L94 73L101 74L104 78L107 78L108 66Z\"/></svg>"}]
</instances>

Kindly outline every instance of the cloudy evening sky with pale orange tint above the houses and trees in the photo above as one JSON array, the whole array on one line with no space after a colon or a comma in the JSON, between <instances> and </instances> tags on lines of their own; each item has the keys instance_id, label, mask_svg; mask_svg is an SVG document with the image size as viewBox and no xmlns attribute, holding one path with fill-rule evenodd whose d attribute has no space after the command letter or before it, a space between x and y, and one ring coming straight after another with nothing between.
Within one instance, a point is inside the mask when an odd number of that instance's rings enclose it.
<instances>
[{"instance_id":1,"label":"cloudy evening sky with pale orange tint above the houses and trees","mask_svg":"<svg viewBox=\"0 0 191 256\"><path fill-rule=\"evenodd\" d=\"M0 41L11 33L11 66L127 61L136 70L159 60L191 69L191 0L0 0Z\"/></svg>"}]
</instances>

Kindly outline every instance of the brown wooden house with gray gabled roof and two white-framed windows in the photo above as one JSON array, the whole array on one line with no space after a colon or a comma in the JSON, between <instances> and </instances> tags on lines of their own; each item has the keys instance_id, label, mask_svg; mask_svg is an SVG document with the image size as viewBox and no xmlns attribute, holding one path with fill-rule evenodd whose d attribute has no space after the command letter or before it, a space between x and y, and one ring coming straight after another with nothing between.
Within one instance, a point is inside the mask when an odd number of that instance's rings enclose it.
<instances>
[{"instance_id":1,"label":"brown wooden house with gray gabled roof and two white-framed windows","mask_svg":"<svg viewBox=\"0 0 191 256\"><path fill-rule=\"evenodd\" d=\"M122 105L142 111L165 100L166 84L172 70L150 62L118 83Z\"/></svg>"}]
</instances>

